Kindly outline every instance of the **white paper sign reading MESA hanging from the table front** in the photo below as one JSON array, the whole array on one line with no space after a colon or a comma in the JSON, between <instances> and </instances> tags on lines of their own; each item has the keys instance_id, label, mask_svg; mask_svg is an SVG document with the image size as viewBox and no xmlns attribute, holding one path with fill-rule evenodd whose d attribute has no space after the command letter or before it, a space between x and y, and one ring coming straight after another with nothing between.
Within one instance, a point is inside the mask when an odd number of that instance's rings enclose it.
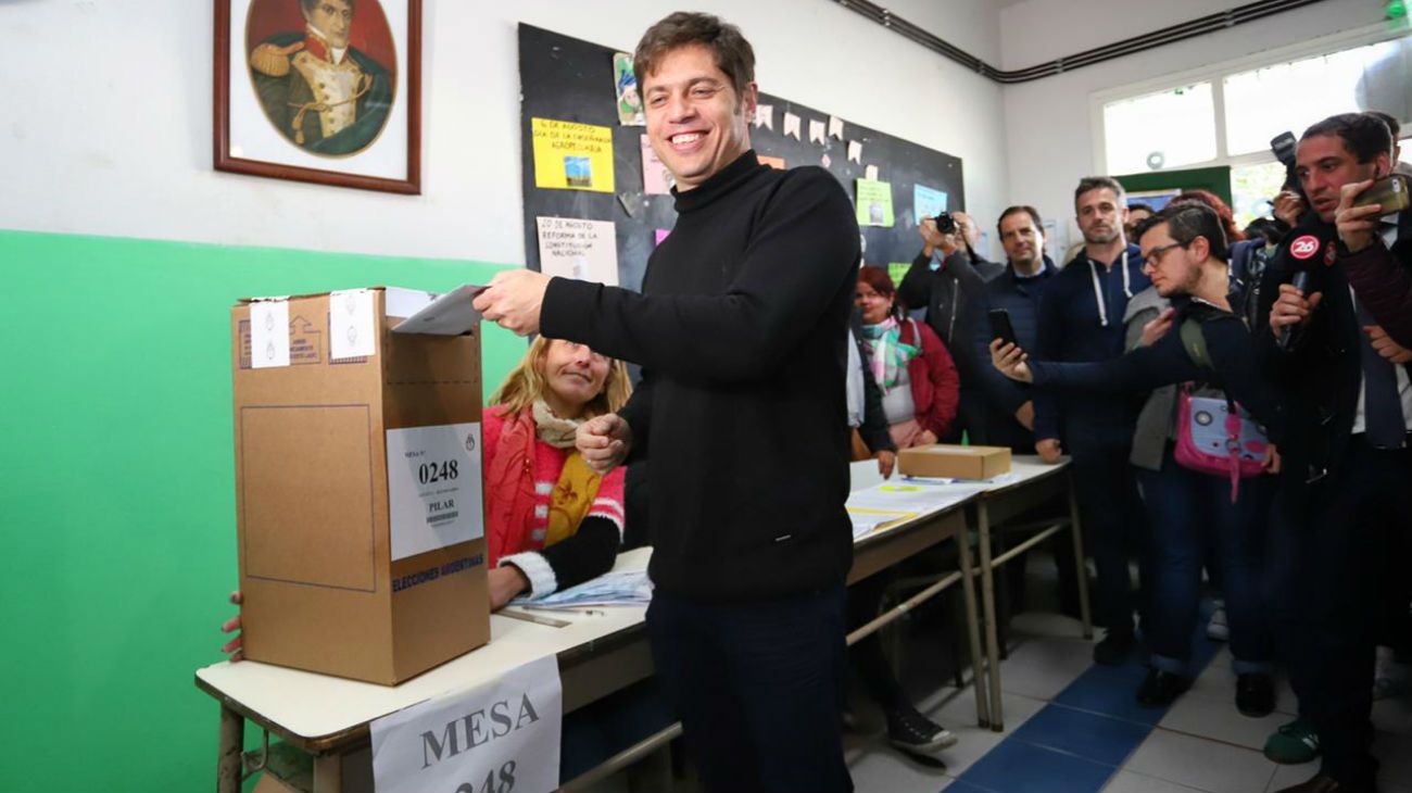
<instances>
[{"instance_id":1,"label":"white paper sign reading MESA hanging from the table front","mask_svg":"<svg viewBox=\"0 0 1412 793\"><path fill-rule=\"evenodd\" d=\"M555 656L373 721L377 793L551 793L563 694Z\"/></svg>"}]
</instances>

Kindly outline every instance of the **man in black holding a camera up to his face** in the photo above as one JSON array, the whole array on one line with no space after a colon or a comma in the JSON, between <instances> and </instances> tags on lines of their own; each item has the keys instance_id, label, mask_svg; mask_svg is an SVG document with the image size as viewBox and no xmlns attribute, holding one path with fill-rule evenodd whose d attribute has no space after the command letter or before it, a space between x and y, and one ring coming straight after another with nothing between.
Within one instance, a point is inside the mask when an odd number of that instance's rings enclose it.
<instances>
[{"instance_id":1,"label":"man in black holding a camera up to his face","mask_svg":"<svg viewBox=\"0 0 1412 793\"><path fill-rule=\"evenodd\" d=\"M976 385L976 365L984 365L973 354L971 322L974 306L981 299L986 282L1005 271L976 253L979 231L964 212L940 213L925 217L918 224L922 251L898 285L898 296L908 308L926 308L926 325L946 344L962 378L960 409L943 443L959 443L967 430L971 440L981 432L981 402L984 396Z\"/></svg>"}]
</instances>

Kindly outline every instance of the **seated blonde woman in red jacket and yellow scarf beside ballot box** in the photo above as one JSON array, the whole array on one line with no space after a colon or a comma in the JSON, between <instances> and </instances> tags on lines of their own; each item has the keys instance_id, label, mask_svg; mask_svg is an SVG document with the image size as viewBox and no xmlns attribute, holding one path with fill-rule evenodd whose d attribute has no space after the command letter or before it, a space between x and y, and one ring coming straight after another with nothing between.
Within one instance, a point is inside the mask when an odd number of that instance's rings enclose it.
<instances>
[{"instance_id":1,"label":"seated blonde woman in red jacket and yellow scarf beside ballot box","mask_svg":"<svg viewBox=\"0 0 1412 793\"><path fill-rule=\"evenodd\" d=\"M573 447L580 422L617 412L633 384L623 361L573 341L530 344L490 396L481 425L490 608L602 576L623 542L626 467L600 477ZM240 593L230 593L240 603ZM240 615L222 631L240 629ZM222 648L240 660L241 636Z\"/></svg>"}]
</instances>

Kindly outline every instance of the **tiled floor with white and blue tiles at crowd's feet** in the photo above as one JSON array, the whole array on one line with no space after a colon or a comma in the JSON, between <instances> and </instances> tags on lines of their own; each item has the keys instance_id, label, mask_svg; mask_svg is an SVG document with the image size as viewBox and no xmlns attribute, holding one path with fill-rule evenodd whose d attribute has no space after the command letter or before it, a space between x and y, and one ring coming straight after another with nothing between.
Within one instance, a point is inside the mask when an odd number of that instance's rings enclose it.
<instances>
[{"instance_id":1,"label":"tiled floor with white and blue tiles at crowd's feet","mask_svg":"<svg viewBox=\"0 0 1412 793\"><path fill-rule=\"evenodd\" d=\"M1200 639L1207 660L1196 684L1171 708L1134 701L1144 667L1091 665L1091 643L1077 622L1043 614L1012 621L1014 646L1001 665L1005 732L974 724L973 691L942 689L921 707L956 732L938 755L945 769L922 766L882 735L853 737L849 763L863 793L1264 793L1302 782L1317 763L1279 766L1261 753L1265 737L1289 721L1293 694L1282 684L1278 711L1247 718L1236 711L1236 679L1224 645ZM1384 701L1380 728L1381 790L1412 793L1412 704Z\"/></svg>"}]
</instances>

